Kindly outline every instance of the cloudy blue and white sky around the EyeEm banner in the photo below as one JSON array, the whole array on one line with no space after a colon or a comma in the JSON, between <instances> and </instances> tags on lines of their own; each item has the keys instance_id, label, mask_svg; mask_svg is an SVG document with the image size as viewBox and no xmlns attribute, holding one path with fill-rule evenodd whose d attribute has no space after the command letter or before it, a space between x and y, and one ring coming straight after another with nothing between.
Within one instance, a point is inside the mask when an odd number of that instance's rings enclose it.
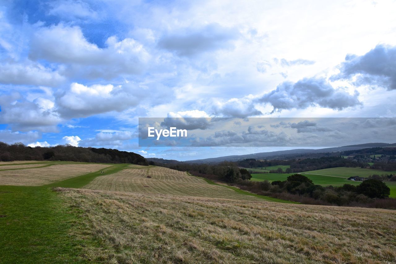
<instances>
[{"instance_id":1,"label":"cloudy blue and white sky around the EyeEm banner","mask_svg":"<svg viewBox=\"0 0 396 264\"><path fill-rule=\"evenodd\" d=\"M281 147L139 147L138 119L395 117L395 10L0 0L0 141L191 160Z\"/></svg>"}]
</instances>

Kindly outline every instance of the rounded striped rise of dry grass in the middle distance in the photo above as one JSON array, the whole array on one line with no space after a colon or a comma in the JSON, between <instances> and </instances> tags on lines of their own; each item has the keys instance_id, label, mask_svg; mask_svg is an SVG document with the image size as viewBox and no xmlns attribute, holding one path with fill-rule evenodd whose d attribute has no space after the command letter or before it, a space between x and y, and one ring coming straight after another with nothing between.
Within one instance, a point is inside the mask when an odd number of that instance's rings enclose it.
<instances>
[{"instance_id":1,"label":"rounded striped rise of dry grass in the middle distance","mask_svg":"<svg viewBox=\"0 0 396 264\"><path fill-rule=\"evenodd\" d=\"M222 186L210 185L205 180L186 172L164 167L137 166L95 178L85 188L135 193L162 193L198 197L259 200ZM149 178L147 176L150 176Z\"/></svg>"}]
</instances>

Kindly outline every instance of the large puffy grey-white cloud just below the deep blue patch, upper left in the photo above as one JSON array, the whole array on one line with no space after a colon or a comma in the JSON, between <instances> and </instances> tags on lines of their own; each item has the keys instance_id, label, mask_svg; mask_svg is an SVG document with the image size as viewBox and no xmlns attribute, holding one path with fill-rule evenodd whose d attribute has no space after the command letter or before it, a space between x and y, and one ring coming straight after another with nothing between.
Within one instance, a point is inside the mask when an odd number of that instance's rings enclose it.
<instances>
[{"instance_id":1,"label":"large puffy grey-white cloud just below the deep blue patch, upper left","mask_svg":"<svg viewBox=\"0 0 396 264\"><path fill-rule=\"evenodd\" d=\"M99 48L84 37L80 27L59 24L36 31L29 57L66 63L65 75L106 79L142 73L150 58L143 45L132 38L118 41L111 36L105 44L107 48Z\"/></svg>"}]
</instances>

